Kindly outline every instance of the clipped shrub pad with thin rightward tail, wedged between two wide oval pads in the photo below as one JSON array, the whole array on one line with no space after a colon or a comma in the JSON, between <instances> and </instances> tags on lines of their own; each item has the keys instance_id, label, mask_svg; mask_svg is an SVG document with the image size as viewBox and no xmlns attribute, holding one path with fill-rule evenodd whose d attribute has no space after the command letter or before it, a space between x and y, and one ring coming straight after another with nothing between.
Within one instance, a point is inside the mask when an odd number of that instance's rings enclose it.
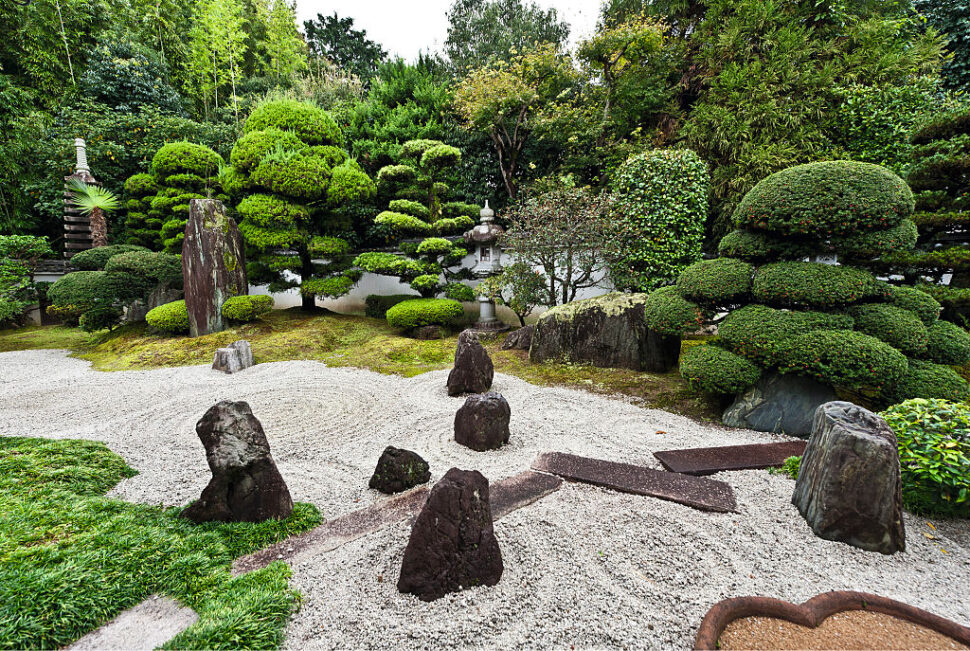
<instances>
[{"instance_id":1,"label":"clipped shrub pad with thin rightward tail, wedged between two wide oval pads","mask_svg":"<svg viewBox=\"0 0 970 651\"><path fill-rule=\"evenodd\" d=\"M738 355L773 366L778 346L786 339L815 330L850 330L853 325L847 314L789 312L748 305L725 317L718 326L718 337Z\"/></svg>"}]
</instances>

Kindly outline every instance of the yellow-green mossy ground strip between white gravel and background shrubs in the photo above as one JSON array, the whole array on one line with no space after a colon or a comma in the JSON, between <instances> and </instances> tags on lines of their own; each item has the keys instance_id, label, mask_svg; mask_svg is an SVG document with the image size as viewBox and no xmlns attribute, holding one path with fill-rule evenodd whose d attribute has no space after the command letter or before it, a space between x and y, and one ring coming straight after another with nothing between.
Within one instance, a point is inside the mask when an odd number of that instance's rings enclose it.
<instances>
[{"instance_id":1,"label":"yellow-green mossy ground strip between white gravel and background shrubs","mask_svg":"<svg viewBox=\"0 0 970 651\"><path fill-rule=\"evenodd\" d=\"M259 321L203 337L161 337L144 325L87 335L77 328L38 326L0 331L0 352L66 348L101 371L209 364L216 348L247 339L257 362L311 359L412 377L449 368L457 334L434 341L401 336L386 322L364 316L275 310ZM543 386L622 394L644 407L717 421L719 405L690 391L677 371L638 373L584 364L533 364L526 351L501 350L502 337L485 341L495 370Z\"/></svg>"}]
</instances>

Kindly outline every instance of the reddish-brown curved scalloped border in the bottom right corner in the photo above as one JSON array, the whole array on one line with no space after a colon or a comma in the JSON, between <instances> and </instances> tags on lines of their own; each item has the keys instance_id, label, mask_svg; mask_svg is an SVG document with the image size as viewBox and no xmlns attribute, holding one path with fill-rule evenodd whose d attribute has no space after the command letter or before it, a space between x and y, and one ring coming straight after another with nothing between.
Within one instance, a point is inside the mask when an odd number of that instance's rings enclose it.
<instances>
[{"instance_id":1,"label":"reddish-brown curved scalloped border in the bottom right corner","mask_svg":"<svg viewBox=\"0 0 970 651\"><path fill-rule=\"evenodd\" d=\"M727 625L742 617L775 617L808 628L825 618L849 610L868 610L918 624L970 646L970 628L915 606L865 592L834 591L795 605L771 597L735 597L720 601L707 611L694 642L695 651L717 648Z\"/></svg>"}]
</instances>

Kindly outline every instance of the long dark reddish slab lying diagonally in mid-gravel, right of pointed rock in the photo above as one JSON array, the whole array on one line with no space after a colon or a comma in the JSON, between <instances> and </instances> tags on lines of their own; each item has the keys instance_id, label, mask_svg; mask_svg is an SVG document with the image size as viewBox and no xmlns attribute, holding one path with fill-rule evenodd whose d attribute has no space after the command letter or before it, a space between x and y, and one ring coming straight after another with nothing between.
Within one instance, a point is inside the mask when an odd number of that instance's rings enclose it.
<instances>
[{"instance_id":1,"label":"long dark reddish slab lying diagonally in mid-gravel, right of pointed rock","mask_svg":"<svg viewBox=\"0 0 970 651\"><path fill-rule=\"evenodd\" d=\"M532 469L611 488L623 493L659 497L702 511L737 512L734 491L722 481L692 477L663 470L590 459L562 452L545 452L532 462Z\"/></svg>"}]
</instances>

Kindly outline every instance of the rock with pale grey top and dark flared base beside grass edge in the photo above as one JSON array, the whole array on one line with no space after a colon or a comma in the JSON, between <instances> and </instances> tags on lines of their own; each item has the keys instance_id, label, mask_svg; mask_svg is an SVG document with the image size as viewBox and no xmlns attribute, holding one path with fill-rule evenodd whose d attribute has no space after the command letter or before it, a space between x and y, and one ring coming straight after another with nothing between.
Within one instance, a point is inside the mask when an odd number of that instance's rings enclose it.
<instances>
[{"instance_id":1,"label":"rock with pale grey top and dark flared base beside grass edge","mask_svg":"<svg viewBox=\"0 0 970 651\"><path fill-rule=\"evenodd\" d=\"M183 516L193 522L262 522L293 512L263 426L247 403L223 400L213 405L195 431L205 446L212 480Z\"/></svg>"}]
</instances>

